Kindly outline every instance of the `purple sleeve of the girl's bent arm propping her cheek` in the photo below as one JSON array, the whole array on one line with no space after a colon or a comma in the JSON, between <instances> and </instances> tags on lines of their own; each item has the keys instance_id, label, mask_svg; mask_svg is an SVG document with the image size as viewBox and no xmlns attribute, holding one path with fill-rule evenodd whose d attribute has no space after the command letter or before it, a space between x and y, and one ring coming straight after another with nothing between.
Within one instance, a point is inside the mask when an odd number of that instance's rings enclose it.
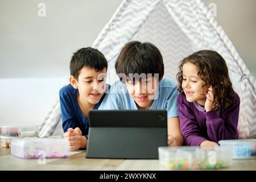
<instances>
[{"instance_id":1,"label":"purple sleeve of the girl's bent arm propping her cheek","mask_svg":"<svg viewBox=\"0 0 256 182\"><path fill-rule=\"evenodd\" d=\"M207 118L207 133L209 139L218 142L224 139L238 139L238 117L240 110L240 97L236 94L236 101L220 114L217 111L204 112Z\"/></svg>"}]
</instances>

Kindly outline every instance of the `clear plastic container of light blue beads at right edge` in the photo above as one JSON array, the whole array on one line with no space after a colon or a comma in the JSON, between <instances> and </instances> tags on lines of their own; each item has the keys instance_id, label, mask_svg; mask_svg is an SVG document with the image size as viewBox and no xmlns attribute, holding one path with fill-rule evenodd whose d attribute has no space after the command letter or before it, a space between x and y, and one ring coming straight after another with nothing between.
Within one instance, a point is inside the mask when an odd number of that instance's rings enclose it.
<instances>
[{"instance_id":1,"label":"clear plastic container of light blue beads at right edge","mask_svg":"<svg viewBox=\"0 0 256 182\"><path fill-rule=\"evenodd\" d=\"M256 159L256 139L220 140L218 143L232 148L233 159Z\"/></svg>"}]
</instances>

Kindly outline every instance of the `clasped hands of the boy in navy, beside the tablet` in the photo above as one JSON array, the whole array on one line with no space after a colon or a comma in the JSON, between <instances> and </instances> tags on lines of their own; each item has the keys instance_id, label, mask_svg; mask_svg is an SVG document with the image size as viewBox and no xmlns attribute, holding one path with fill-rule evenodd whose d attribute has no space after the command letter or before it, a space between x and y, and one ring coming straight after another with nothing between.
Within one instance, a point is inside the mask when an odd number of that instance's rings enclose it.
<instances>
[{"instance_id":1,"label":"clasped hands of the boy in navy, beside the tablet","mask_svg":"<svg viewBox=\"0 0 256 182\"><path fill-rule=\"evenodd\" d=\"M68 131L63 134L63 137L64 139L69 140L69 148L71 150L86 147L87 139L82 136L79 127L76 127L75 130L72 128L68 129Z\"/></svg>"}]
</instances>

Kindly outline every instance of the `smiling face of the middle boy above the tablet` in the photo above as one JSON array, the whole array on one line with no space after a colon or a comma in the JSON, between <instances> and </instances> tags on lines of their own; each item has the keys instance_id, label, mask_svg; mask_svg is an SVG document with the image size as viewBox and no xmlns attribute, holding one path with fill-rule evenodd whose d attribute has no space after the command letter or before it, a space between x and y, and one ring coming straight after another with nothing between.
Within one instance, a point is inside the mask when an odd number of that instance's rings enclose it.
<instances>
[{"instance_id":1,"label":"smiling face of the middle boy above the tablet","mask_svg":"<svg viewBox=\"0 0 256 182\"><path fill-rule=\"evenodd\" d=\"M155 90L158 89L158 80L154 76L140 80L127 78L125 84L138 109L150 109L155 99Z\"/></svg>"}]
</instances>

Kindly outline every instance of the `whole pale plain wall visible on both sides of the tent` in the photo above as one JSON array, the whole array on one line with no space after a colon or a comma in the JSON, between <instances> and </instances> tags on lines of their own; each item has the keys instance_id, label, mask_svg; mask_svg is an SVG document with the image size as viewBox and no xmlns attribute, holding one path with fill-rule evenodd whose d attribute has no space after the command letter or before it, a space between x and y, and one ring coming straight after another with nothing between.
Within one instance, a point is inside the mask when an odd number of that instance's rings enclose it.
<instances>
[{"instance_id":1,"label":"whole pale plain wall visible on both sides of the tent","mask_svg":"<svg viewBox=\"0 0 256 182\"><path fill-rule=\"evenodd\" d=\"M255 0L216 3L217 21L256 76ZM46 17L38 16L38 3ZM121 0L0 0L0 126L40 125L69 75Z\"/></svg>"}]
</instances>

